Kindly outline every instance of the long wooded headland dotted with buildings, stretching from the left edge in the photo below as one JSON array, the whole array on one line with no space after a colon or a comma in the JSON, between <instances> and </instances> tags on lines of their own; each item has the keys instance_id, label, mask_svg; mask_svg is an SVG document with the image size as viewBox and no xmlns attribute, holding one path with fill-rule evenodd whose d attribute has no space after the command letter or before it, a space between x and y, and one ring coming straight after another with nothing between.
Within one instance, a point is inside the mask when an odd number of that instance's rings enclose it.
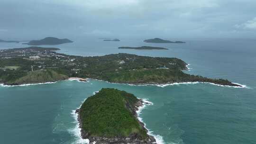
<instances>
[{"instance_id":1,"label":"long wooded headland dotted with buildings, stretching from the left edge","mask_svg":"<svg viewBox=\"0 0 256 144\"><path fill-rule=\"evenodd\" d=\"M20 85L75 77L128 84L199 81L241 87L224 79L184 73L187 63L178 58L124 53L84 57L60 54L56 50L59 49L37 46L0 50L0 83Z\"/></svg>"}]
</instances>

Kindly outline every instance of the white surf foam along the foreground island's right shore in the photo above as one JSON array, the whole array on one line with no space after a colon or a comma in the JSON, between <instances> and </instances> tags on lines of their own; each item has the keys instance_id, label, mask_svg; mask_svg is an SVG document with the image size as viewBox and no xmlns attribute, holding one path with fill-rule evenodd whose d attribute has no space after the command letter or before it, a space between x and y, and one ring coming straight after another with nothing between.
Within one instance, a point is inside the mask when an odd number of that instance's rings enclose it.
<instances>
[{"instance_id":1,"label":"white surf foam along the foreground island's right shore","mask_svg":"<svg viewBox=\"0 0 256 144\"><path fill-rule=\"evenodd\" d=\"M143 100L144 102L146 102L146 103L150 103L151 105L154 105L152 102L148 101L148 99L142 99L142 100ZM137 117L138 120L144 124L144 127L145 127L145 128L146 128L146 124L143 122L142 117L139 117L139 115L141 114L141 111L142 111L144 108L146 108L147 105L149 105L149 104L146 104L146 103L144 103L143 106L139 107L138 110L136 111L136 112L137 112L137 115L138 115L138 117ZM147 128L146 128L146 129L147 129ZM150 131L149 129L147 129L147 131L148 131L148 132L147 132L148 135L152 135L152 136L155 137L156 144L165 144L164 139L163 139L163 136L161 136L161 135L154 135L154 134L153 134L153 131Z\"/></svg>"}]
</instances>

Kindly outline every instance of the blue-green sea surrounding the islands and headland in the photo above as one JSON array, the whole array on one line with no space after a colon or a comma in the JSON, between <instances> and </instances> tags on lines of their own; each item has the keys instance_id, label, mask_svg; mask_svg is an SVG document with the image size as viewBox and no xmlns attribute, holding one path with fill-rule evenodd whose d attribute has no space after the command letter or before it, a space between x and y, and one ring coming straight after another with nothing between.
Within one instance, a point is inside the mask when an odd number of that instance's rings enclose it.
<instances>
[{"instance_id":1,"label":"blue-green sea surrounding the islands and headland","mask_svg":"<svg viewBox=\"0 0 256 144\"><path fill-rule=\"evenodd\" d=\"M158 144L256 144L256 40L186 39L186 44L149 44L143 38L72 40L75 42L54 47L61 48L59 53L84 56L177 57L190 64L187 73L224 78L247 87L207 83L132 86L95 80L0 86L0 144L86 144L79 137L73 110L101 88L126 90L152 102L139 117ZM143 45L169 50L118 49ZM0 49L25 46L0 43Z\"/></svg>"}]
</instances>

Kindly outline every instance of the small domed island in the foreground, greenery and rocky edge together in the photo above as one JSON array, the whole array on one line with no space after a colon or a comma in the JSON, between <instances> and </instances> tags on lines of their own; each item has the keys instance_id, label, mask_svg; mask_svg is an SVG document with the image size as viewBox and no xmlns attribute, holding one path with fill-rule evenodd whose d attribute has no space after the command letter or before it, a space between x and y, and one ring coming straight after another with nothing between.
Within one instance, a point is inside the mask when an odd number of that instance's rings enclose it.
<instances>
[{"instance_id":1,"label":"small domed island in the foreground, greenery and rocky edge together","mask_svg":"<svg viewBox=\"0 0 256 144\"><path fill-rule=\"evenodd\" d=\"M76 110L82 138L90 144L156 144L137 119L143 103L126 91L101 89Z\"/></svg>"}]
</instances>

